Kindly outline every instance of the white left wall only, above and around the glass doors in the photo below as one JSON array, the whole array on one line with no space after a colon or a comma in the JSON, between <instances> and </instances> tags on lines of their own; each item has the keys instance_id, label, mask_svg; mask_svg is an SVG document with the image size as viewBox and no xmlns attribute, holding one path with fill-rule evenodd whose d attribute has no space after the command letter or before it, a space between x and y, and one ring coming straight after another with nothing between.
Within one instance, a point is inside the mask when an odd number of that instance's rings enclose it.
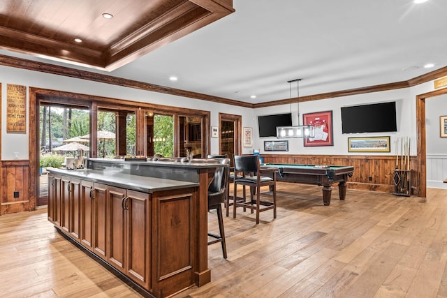
<instances>
[{"instance_id":1,"label":"white left wall only, above and around the glass doors","mask_svg":"<svg viewBox=\"0 0 447 298\"><path fill-rule=\"evenodd\" d=\"M91 82L87 80L73 79L61 75L51 75L47 73L38 73L31 70L22 70L8 66L0 66L1 82L1 158L9 160L15 158L15 152L18 152L18 159L28 159L28 133L29 133L29 114L27 106L27 133L15 134L6 133L6 84L19 84L27 87L39 87L45 89L54 89L69 91L80 94L91 94L95 96L105 96L110 98L119 98L124 100L135 100L142 103L154 103L159 105L171 105L173 107L188 107L198 110L207 110L211 112L210 125L219 126L219 112L227 114L238 114L242 116L242 126L252 126L253 110L235 105L224 105L212 103L206 100L197 100L180 96L172 96L152 91L140 89L119 87L111 84ZM28 91L28 90L27 90ZM27 94L27 97L29 94ZM219 152L219 139L211 138L211 153ZM243 154L249 154L250 148L244 148Z\"/></svg>"}]
</instances>

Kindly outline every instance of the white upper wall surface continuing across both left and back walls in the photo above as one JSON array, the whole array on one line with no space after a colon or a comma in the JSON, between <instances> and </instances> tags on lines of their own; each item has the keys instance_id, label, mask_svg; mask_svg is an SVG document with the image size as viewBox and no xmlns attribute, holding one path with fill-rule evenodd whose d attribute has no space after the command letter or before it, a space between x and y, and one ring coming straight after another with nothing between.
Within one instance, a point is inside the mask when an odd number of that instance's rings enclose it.
<instances>
[{"instance_id":1,"label":"white upper wall surface continuing across both left and back walls","mask_svg":"<svg viewBox=\"0 0 447 298\"><path fill-rule=\"evenodd\" d=\"M15 158L14 152L18 152L19 159L28 158L28 135L6 133L6 84L20 84L27 87L40 87L45 89L56 89L70 91L81 94L91 94L95 96L106 96L110 98L119 98L125 100L135 100L143 103L155 103L160 105L172 105L175 107L197 108L200 110L209 110L211 112L210 125L219 126L219 112L227 114L238 114L242 116L242 126L252 127L254 132L254 147L263 151L263 141L274 140L275 138L258 137L258 115L277 114L282 112L296 113L297 105L280 105L277 107L263 107L258 109L249 109L234 105L224 105L220 103L208 102L206 100L196 100L193 98L184 98L180 96L171 96L151 91L143 91L126 87L119 87L111 84L91 82L87 80L73 79L60 75L51 75L47 73L38 73L31 70L22 70L0 66L0 82L2 83L2 159L8 160ZM433 90L433 82L420 84L416 87L407 89L397 89L391 91L381 91L372 94L360 94L356 96L344 96L339 98L330 98L325 100L316 100L300 103L300 114L309 112L321 112L332 110L333 137L334 145L330 147L304 147L302 139L289 139L289 151L275 152L275 154L334 154L345 155L354 154L348 152L348 137L363 136L383 136L390 135L391 152L395 154L395 140L397 137L411 137L411 154L416 155L416 95L423 94ZM397 132L384 134L342 134L342 121L340 107L346 105L358 105L368 103L380 103L384 101L395 100L397 102ZM435 108L436 109L436 108ZM447 114L444 113L444 114ZM437 123L439 117L432 120L432 116L427 116L430 121ZM301 123L302 123L302 116ZM27 116L27 121L29 117ZM295 119L296 121L296 119ZM28 126L27 126L28 127ZM445 143L444 143L445 144ZM243 154L253 152L253 148L243 147ZM211 138L211 153L219 152L219 140ZM427 152L428 149L427 149ZM270 152L271 153L271 152ZM364 155L359 153L360 155ZM372 153L374 154L374 153ZM383 155L386 153L378 153Z\"/></svg>"}]
</instances>

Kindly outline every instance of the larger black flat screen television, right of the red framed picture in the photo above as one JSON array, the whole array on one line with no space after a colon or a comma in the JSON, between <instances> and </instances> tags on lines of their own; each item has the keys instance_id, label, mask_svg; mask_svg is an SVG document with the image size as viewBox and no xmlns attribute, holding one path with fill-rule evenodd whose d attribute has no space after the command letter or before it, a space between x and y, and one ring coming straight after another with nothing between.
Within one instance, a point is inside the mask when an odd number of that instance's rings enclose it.
<instances>
[{"instance_id":1,"label":"larger black flat screen television, right of the red framed picture","mask_svg":"<svg viewBox=\"0 0 447 298\"><path fill-rule=\"evenodd\" d=\"M342 133L397 131L396 102L342 107Z\"/></svg>"}]
</instances>

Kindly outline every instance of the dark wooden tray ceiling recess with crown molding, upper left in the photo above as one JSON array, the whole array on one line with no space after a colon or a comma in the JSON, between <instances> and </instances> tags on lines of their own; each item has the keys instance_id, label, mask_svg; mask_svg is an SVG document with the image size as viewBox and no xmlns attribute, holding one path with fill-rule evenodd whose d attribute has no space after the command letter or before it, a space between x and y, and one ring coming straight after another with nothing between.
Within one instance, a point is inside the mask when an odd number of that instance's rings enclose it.
<instances>
[{"instance_id":1,"label":"dark wooden tray ceiling recess with crown molding, upper left","mask_svg":"<svg viewBox=\"0 0 447 298\"><path fill-rule=\"evenodd\" d=\"M3 0L0 48L111 71L234 11L233 0Z\"/></svg>"}]
</instances>

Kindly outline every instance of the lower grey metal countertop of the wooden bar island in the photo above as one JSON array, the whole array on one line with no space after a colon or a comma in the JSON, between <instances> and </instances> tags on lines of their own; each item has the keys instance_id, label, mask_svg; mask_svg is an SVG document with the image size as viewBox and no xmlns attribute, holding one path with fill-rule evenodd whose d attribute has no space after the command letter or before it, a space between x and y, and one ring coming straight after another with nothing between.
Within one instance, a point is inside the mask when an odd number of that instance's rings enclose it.
<instances>
[{"instance_id":1,"label":"lower grey metal countertop of the wooden bar island","mask_svg":"<svg viewBox=\"0 0 447 298\"><path fill-rule=\"evenodd\" d=\"M169 191L178 188L199 186L198 183L194 182L160 179L101 170L65 170L47 167L47 171L54 174L61 174L64 176L98 182L101 184L108 184L110 186L131 189L133 191L142 191L144 193L154 193L156 191Z\"/></svg>"}]
</instances>

